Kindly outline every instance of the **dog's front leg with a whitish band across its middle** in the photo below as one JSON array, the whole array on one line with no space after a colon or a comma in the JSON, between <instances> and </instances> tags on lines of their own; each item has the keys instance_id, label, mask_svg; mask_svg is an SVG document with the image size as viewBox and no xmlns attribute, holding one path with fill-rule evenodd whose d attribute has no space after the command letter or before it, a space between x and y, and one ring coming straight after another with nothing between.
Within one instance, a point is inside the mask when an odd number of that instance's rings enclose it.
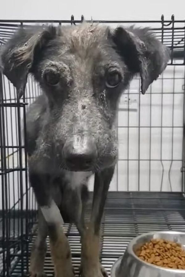
<instances>
[{"instance_id":1,"label":"dog's front leg with a whitish band across its middle","mask_svg":"<svg viewBox=\"0 0 185 277\"><path fill-rule=\"evenodd\" d=\"M51 198L51 180L46 175L31 174L30 182L48 226L55 277L74 277L70 246L62 228L60 211Z\"/></svg>"}]
</instances>

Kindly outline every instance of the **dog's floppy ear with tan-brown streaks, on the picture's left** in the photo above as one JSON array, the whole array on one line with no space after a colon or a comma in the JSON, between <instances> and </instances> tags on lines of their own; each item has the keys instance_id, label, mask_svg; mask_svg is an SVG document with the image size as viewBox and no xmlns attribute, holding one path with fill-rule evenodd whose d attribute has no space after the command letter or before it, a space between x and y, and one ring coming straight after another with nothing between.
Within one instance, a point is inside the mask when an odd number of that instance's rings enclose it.
<instances>
[{"instance_id":1,"label":"dog's floppy ear with tan-brown streaks, on the picture's left","mask_svg":"<svg viewBox=\"0 0 185 277\"><path fill-rule=\"evenodd\" d=\"M38 61L40 51L55 37L56 28L53 26L22 28L2 46L0 68L16 87L18 98L24 94L28 73Z\"/></svg>"}]
</instances>

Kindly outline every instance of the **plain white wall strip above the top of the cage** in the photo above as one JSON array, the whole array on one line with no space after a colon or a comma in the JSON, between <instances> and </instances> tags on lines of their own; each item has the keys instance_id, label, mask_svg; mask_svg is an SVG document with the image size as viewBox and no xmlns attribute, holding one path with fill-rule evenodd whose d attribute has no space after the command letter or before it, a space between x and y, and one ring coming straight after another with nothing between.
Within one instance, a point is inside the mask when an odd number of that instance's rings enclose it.
<instances>
[{"instance_id":1,"label":"plain white wall strip above the top of the cage","mask_svg":"<svg viewBox=\"0 0 185 277\"><path fill-rule=\"evenodd\" d=\"M80 19L158 20L175 14L184 19L184 0L6 0L0 1L1 19L69 19L71 14Z\"/></svg>"}]
</instances>

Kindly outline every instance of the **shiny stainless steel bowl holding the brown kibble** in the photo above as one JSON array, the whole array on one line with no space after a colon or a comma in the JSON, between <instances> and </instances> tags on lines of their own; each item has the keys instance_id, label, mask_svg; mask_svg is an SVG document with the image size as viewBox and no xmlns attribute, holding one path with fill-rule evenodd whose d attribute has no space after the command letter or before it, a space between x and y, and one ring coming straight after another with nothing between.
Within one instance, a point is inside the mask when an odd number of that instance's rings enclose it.
<instances>
[{"instance_id":1,"label":"shiny stainless steel bowl holding the brown kibble","mask_svg":"<svg viewBox=\"0 0 185 277\"><path fill-rule=\"evenodd\" d=\"M180 243L185 249L185 233L182 232L162 231L140 235L130 241L125 254L113 264L111 277L185 277L185 270L155 266L135 255L138 247L150 239L167 239Z\"/></svg>"}]
</instances>

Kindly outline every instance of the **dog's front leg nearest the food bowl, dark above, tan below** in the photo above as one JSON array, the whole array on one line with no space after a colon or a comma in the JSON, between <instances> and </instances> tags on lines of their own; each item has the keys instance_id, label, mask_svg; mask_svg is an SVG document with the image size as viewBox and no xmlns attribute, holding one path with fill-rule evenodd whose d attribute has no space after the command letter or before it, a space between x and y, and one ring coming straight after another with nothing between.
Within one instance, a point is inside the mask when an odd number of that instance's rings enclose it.
<instances>
[{"instance_id":1,"label":"dog's front leg nearest the food bowl, dark above, tan below","mask_svg":"<svg viewBox=\"0 0 185 277\"><path fill-rule=\"evenodd\" d=\"M100 226L109 184L114 168L95 174L91 219L82 236L81 276L106 276L99 262Z\"/></svg>"}]
</instances>

